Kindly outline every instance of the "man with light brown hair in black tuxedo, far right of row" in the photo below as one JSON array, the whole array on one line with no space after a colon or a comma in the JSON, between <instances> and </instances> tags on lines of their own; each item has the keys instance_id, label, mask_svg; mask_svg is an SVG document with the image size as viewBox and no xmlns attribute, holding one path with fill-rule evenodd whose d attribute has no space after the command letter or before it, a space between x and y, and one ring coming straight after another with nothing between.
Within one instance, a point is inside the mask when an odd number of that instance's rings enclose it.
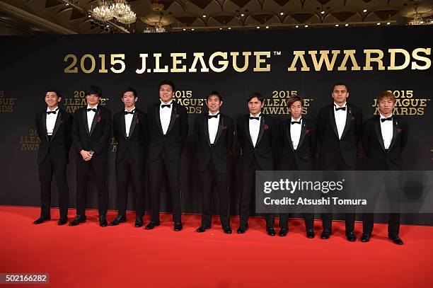
<instances>
[{"instance_id":1,"label":"man with light brown hair in black tuxedo, far right of row","mask_svg":"<svg viewBox=\"0 0 433 288\"><path fill-rule=\"evenodd\" d=\"M364 122L362 129L362 146L366 154L367 169L373 171L400 171L402 169L401 154L408 142L408 124L393 115L393 108L396 98L391 91L385 91L377 98L379 114L371 117ZM371 199L374 203L379 195L383 180L390 194L391 187L396 185L398 179L393 179L389 173L384 173L380 183L376 183L374 195ZM392 203L393 198L398 199L398 195L390 195L391 209L396 203ZM394 205L393 205L394 204ZM394 209L395 210L395 209ZM374 214L364 213L362 215L363 232L361 241L368 242L371 237L374 225ZM388 238L393 243L403 245L403 241L398 236L400 231L400 213L391 211L388 221Z\"/></svg>"}]
</instances>

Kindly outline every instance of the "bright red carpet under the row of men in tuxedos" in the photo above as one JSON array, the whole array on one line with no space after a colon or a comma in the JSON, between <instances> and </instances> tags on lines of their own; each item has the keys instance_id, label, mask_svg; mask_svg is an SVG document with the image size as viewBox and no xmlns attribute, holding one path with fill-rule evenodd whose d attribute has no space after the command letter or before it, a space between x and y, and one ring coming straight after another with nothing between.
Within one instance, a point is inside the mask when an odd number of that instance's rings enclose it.
<instances>
[{"instance_id":1,"label":"bright red carpet under the row of men in tuxedos","mask_svg":"<svg viewBox=\"0 0 433 288\"><path fill-rule=\"evenodd\" d=\"M405 245L397 246L381 224L369 243L350 243L340 222L322 240L320 221L316 238L308 239L299 220L289 222L286 237L270 237L263 219L251 219L240 235L233 217L235 233L226 235L214 218L211 230L197 234L197 215L184 215L183 231L174 232L170 214L145 231L134 228L134 214L125 224L101 228L95 210L76 227L57 226L57 209L52 221L34 225L39 211L0 207L0 273L50 274L50 284L13 287L433 287L428 226L402 226ZM108 220L114 217L109 212Z\"/></svg>"}]
</instances>

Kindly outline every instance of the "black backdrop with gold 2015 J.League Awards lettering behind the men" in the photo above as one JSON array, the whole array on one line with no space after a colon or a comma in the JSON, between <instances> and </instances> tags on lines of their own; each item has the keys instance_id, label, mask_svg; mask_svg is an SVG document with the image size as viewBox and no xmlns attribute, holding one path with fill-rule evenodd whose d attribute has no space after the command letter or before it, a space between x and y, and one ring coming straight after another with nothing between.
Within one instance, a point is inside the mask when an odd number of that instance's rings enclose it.
<instances>
[{"instance_id":1,"label":"black backdrop with gold 2015 J.League Awards lettering behind the men","mask_svg":"<svg viewBox=\"0 0 433 288\"><path fill-rule=\"evenodd\" d=\"M247 113L246 96L251 91L260 91L265 98L267 113L275 117L288 117L285 100L290 94L297 93L308 99L304 113L316 117L318 109L330 103L333 83L347 83L350 88L350 102L363 110L364 119L374 115L374 99L382 91L396 91L399 103L395 113L407 117L410 125L408 149L404 154L407 170L430 170L432 168L432 113L429 107L432 93L431 47L433 29L430 27L374 27L374 28L334 28L334 29L292 29L292 30L254 30L218 31L197 33L162 33L140 35L44 35L29 37L0 38L0 120L1 120L1 205L39 205L39 183L37 178L34 116L37 110L45 109L44 91L55 87L62 93L62 106L69 112L83 105L83 89L89 84L103 89L102 104L112 114L122 109L120 92L132 86L139 93L137 107L146 110L151 103L158 101L158 82L171 79L178 90L176 100L188 106L190 113L190 134L197 113L205 113L203 99L211 90L218 90L224 97L222 111L236 118ZM421 48L422 51L417 52ZM391 63L388 50L407 51L409 62L404 69L391 70L389 66L405 63L404 52L396 52L396 63ZM317 51L339 50L333 69L327 69L324 62L321 69L314 68L312 56ZM338 70L345 58L343 50L355 50L359 70L352 70L351 58L347 58L347 70ZM366 69L369 52L383 52L383 69L371 62L371 70ZM415 50L415 52L414 52ZM305 51L306 66L310 71L301 71L301 59L296 62L296 71L288 71L294 61L294 51ZM178 68L186 65L186 72L170 72L173 68L171 53L186 53L186 59ZM197 72L188 71L194 54L204 53L204 63L209 72L202 72L200 61ZM217 72L209 68L209 57L214 52L227 52L229 65L225 71ZM251 52L248 69L238 72L233 69L230 52L239 52L237 66L243 67L243 52ZM254 52L267 52L269 57L261 56L259 67L270 65L270 71L253 71L257 66ZM161 53L161 67L168 65L167 73L154 70L137 74L142 67L139 54L148 54L147 67L155 68L154 53ZM350 52L347 52L350 53ZM346 53L346 54L347 54ZM65 59L68 54L73 54ZM91 54L95 59L95 69L91 71ZM104 54L105 56L99 56ZM125 54L125 71L114 73L110 70L111 54ZM262 53L266 54L266 53ZM372 53L371 57L378 54ZM418 59L415 59L418 55ZM77 73L65 73L69 64L77 63ZM100 73L105 57L107 73ZM419 59L420 57L424 57ZM83 69L81 60L83 59ZM120 59L120 57L115 57ZM220 68L221 56L214 58L214 66ZM421 68L413 67L415 64ZM343 65L344 66L344 65ZM356 65L355 65L356 66ZM416 65L415 65L416 66ZM121 64L113 69L119 70ZM330 71L328 71L330 70ZM190 91L190 92L189 92ZM108 191L109 207L115 208L115 142L111 143ZM239 149L235 143L231 156L231 212L237 214L241 183L238 177ZM70 206L75 206L75 164L76 150L71 149L71 163L68 167ZM201 190L198 173L195 171L195 149L191 137L182 158L183 211L200 212ZM148 167L149 168L149 167ZM360 167L362 168L362 159ZM96 191L89 193L88 205L96 207ZM165 190L165 189L164 189ZM53 184L53 205L57 205L57 188ZM163 192L162 208L169 211L170 200ZM146 206L147 203L146 203ZM133 209L129 205L129 209ZM433 224L429 214L411 214L403 217L410 224Z\"/></svg>"}]
</instances>

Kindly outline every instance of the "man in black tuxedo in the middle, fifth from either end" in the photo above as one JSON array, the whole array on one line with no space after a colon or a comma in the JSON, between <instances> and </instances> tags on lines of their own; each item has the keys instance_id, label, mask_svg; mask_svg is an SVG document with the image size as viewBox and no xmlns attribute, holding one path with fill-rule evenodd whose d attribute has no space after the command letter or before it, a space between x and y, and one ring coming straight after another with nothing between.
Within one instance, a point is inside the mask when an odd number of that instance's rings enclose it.
<instances>
[{"instance_id":1,"label":"man in black tuxedo in the middle, fifth from either end","mask_svg":"<svg viewBox=\"0 0 433 288\"><path fill-rule=\"evenodd\" d=\"M197 117L194 125L198 169L203 183L202 225L197 232L210 229L212 190L217 185L221 226L224 233L231 234L227 172L228 154L233 145L233 120L219 112L222 103L218 91L209 93L206 100L209 114Z\"/></svg>"}]
</instances>

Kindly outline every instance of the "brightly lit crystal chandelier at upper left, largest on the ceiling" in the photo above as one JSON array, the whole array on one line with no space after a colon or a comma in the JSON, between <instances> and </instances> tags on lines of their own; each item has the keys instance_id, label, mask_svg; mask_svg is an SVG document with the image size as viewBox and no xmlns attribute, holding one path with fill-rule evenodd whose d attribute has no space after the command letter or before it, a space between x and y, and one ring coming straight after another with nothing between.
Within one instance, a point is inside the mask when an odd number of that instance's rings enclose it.
<instances>
[{"instance_id":1,"label":"brightly lit crystal chandelier at upper left, largest on the ceiling","mask_svg":"<svg viewBox=\"0 0 433 288\"><path fill-rule=\"evenodd\" d=\"M93 8L91 15L102 22L116 18L120 23L131 24L137 20L137 15L126 0L99 0L98 6Z\"/></svg>"}]
</instances>

